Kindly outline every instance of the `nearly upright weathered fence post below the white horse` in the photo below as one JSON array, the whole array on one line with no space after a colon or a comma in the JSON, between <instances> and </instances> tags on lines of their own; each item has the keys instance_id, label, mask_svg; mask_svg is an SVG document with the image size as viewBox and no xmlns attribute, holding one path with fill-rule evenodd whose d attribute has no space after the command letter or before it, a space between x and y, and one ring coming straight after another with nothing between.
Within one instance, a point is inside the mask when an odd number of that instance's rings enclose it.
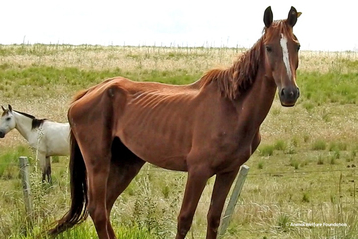
<instances>
[{"instance_id":1,"label":"nearly upright weathered fence post below the white horse","mask_svg":"<svg viewBox=\"0 0 358 239\"><path fill-rule=\"evenodd\" d=\"M20 173L21 181L24 189L24 201L26 207L27 216L32 213L32 200L31 200L31 188L30 188L30 175L29 175L29 164L27 157L19 157L20 161Z\"/></svg>"}]
</instances>

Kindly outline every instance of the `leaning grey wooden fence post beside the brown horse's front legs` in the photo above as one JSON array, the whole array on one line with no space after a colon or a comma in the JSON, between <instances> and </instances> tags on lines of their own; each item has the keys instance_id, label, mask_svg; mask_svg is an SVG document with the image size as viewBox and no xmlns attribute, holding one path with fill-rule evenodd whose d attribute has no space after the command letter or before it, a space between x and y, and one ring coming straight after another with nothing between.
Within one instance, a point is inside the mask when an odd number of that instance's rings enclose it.
<instances>
[{"instance_id":1,"label":"leaning grey wooden fence post beside the brown horse's front legs","mask_svg":"<svg viewBox=\"0 0 358 239\"><path fill-rule=\"evenodd\" d=\"M239 199L239 195L241 193L242 187L244 186L245 179L249 172L249 169L250 167L247 165L242 165L240 167L234 189L232 190L231 193L228 207L225 211L224 216L222 217L221 226L218 233L219 238L225 234L225 231L229 226L231 214L235 209L235 205L237 203L237 200Z\"/></svg>"}]
</instances>

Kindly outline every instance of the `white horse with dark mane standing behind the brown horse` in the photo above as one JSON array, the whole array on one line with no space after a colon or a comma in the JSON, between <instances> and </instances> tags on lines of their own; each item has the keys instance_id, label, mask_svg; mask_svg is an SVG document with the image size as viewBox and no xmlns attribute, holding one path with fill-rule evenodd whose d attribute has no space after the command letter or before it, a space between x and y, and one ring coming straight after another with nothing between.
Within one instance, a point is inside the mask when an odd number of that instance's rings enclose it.
<instances>
[{"instance_id":1,"label":"white horse with dark mane standing behind the brown horse","mask_svg":"<svg viewBox=\"0 0 358 239\"><path fill-rule=\"evenodd\" d=\"M27 140L30 147L37 150L37 157L42 170L42 181L46 175L51 182L51 156L68 156L70 154L70 124L57 123L49 119L36 119L34 116L1 106L0 138L13 129L17 129Z\"/></svg>"}]
</instances>

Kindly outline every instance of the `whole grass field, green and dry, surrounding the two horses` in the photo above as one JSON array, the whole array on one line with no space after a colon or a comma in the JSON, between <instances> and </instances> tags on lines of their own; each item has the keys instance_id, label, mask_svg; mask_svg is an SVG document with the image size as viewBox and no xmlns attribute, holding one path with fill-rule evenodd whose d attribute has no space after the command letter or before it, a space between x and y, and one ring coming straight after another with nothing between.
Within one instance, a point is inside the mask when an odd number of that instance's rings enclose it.
<instances>
[{"instance_id":1,"label":"whole grass field, green and dry, surrounding the two horses","mask_svg":"<svg viewBox=\"0 0 358 239\"><path fill-rule=\"evenodd\" d=\"M0 46L0 104L65 122L72 96L106 78L185 84L198 80L209 68L230 65L242 51ZM261 126L262 142L246 162L250 172L226 239L358 237L358 53L302 51L297 83L301 91L297 105L283 108L276 97ZM31 225L25 219L16 166L19 156L31 162ZM53 186L49 187L40 185L34 158L17 131L0 140L0 238L33 239L68 210L68 159L52 160ZM174 238L185 182L185 173L145 165L112 210L119 238ZM205 188L188 239L205 238L213 182L211 178ZM347 227L295 227L291 222L341 222ZM91 219L63 238L96 238Z\"/></svg>"}]
</instances>

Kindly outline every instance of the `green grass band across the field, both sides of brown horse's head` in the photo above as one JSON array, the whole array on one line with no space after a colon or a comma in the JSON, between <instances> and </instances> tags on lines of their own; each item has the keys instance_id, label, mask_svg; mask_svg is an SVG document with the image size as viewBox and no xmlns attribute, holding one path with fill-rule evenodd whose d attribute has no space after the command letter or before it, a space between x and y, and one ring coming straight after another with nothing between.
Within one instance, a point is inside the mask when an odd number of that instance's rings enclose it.
<instances>
[{"instance_id":1,"label":"green grass band across the field, both sides of brown horse's head","mask_svg":"<svg viewBox=\"0 0 358 239\"><path fill-rule=\"evenodd\" d=\"M198 80L203 73L202 71L194 71L188 75L188 71L185 69L166 71L138 69L137 71L127 71L120 67L95 71L82 70L76 67L57 68L43 65L26 67L22 65L10 65L8 63L1 64L0 69L2 69L0 71L0 78L4 79L0 90L3 91L5 97L11 97L12 95L17 97L32 97L30 94L36 93L37 87L45 87L48 91L60 93L53 86L57 85L60 86L59 89L62 89L64 85L71 85L74 89L81 89L116 76L123 76L138 81L187 84ZM337 74L333 73L298 72L297 78L300 79L298 84L302 88L301 91L305 92L303 97L310 100L304 103L307 110L311 110L314 106L319 106L326 102L358 104L358 84L352 83L358 81L358 73L340 74L339 78L337 78ZM23 91L25 95L22 93ZM41 96L39 93L36 95L38 97Z\"/></svg>"}]
</instances>

